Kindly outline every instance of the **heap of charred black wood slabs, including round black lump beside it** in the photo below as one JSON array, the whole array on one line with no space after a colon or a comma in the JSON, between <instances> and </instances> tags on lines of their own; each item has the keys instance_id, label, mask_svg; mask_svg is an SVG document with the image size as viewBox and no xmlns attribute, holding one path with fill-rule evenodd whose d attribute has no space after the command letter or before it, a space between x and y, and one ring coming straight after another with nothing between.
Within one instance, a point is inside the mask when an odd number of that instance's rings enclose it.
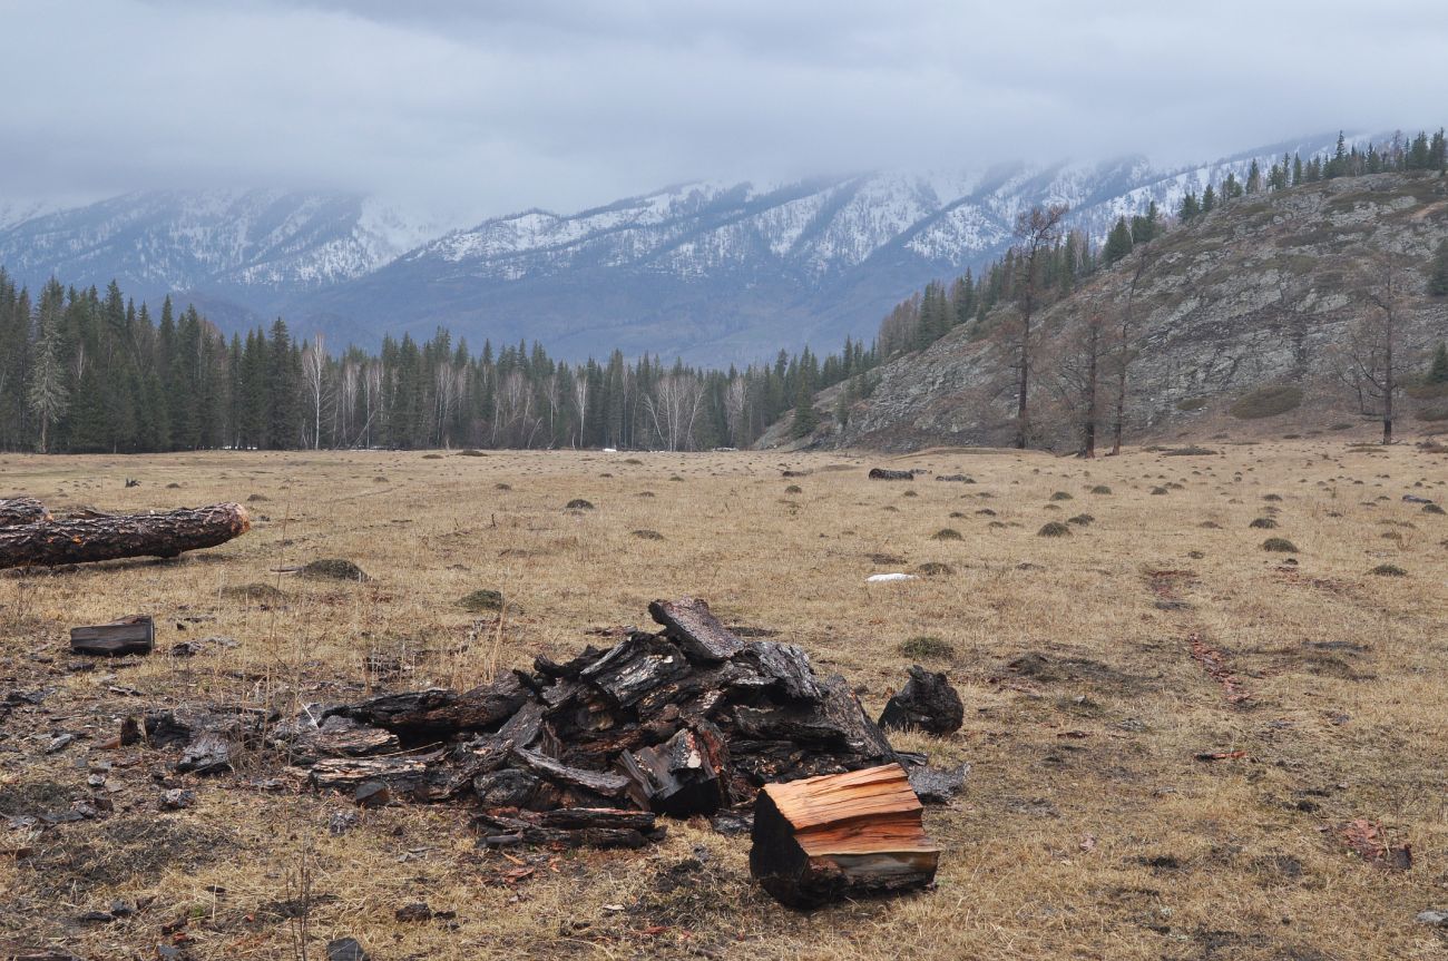
<instances>
[{"instance_id":1,"label":"heap of charred black wood slabs, including round black lump beside it","mask_svg":"<svg viewBox=\"0 0 1448 961\"><path fill-rule=\"evenodd\" d=\"M495 845L637 847L662 832L656 815L724 826L763 784L895 761L925 799L960 786L963 769L893 751L844 677L818 677L799 647L746 643L694 598L649 612L659 632L621 632L565 663L539 657L462 693L314 706L275 727L271 745L314 787L362 805L472 800ZM914 670L896 699L886 718L960 727L940 674Z\"/></svg>"}]
</instances>

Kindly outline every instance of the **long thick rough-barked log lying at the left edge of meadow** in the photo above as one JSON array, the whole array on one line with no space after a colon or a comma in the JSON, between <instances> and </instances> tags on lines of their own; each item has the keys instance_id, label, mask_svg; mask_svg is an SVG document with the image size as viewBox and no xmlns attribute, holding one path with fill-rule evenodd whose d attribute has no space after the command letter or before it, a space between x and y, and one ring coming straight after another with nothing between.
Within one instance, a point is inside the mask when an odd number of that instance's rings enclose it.
<instances>
[{"instance_id":1,"label":"long thick rough-barked log lying at the left edge of meadow","mask_svg":"<svg viewBox=\"0 0 1448 961\"><path fill-rule=\"evenodd\" d=\"M175 557L224 544L249 528L251 518L240 504L0 527L0 569Z\"/></svg>"}]
</instances>

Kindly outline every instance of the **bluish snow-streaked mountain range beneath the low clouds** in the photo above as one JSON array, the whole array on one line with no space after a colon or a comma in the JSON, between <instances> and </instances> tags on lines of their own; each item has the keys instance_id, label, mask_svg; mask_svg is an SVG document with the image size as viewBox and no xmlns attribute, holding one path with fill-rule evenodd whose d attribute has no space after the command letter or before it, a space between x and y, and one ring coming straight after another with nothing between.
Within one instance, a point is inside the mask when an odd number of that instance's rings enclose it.
<instances>
[{"instance_id":1,"label":"bluish snow-streaked mountain range beneath the low clouds","mask_svg":"<svg viewBox=\"0 0 1448 961\"><path fill-rule=\"evenodd\" d=\"M1064 203L1100 239L1118 216L1245 178L1273 145L1215 164L1145 159L821 177L796 184L698 182L576 214L526 210L437 236L352 194L132 194L0 217L0 265L155 300L181 294L223 327L281 313L297 333L375 346L439 326L473 346L540 340L565 357L614 347L749 362L780 347L869 337L891 305L933 278L1001 256L1015 217ZM3 206L0 206L3 207Z\"/></svg>"}]
</instances>

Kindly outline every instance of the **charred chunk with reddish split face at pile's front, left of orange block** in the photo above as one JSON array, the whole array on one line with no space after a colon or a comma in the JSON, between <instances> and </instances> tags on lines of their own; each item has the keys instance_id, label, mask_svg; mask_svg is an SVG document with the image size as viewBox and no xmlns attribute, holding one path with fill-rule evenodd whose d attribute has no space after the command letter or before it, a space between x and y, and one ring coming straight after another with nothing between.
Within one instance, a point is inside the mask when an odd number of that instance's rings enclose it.
<instances>
[{"instance_id":1,"label":"charred chunk with reddish split face at pile's front, left of orange block","mask_svg":"<svg viewBox=\"0 0 1448 961\"><path fill-rule=\"evenodd\" d=\"M710 815L728 803L728 748L708 721L696 721L669 741L618 758L628 796L640 808L672 818Z\"/></svg>"}]
</instances>

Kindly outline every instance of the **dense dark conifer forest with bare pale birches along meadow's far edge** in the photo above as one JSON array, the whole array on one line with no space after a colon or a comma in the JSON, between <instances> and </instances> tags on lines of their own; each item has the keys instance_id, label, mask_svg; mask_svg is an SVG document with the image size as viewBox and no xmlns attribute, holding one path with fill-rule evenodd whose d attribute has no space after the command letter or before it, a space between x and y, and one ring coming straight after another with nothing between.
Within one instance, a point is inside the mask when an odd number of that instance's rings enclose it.
<instances>
[{"instance_id":1,"label":"dense dark conifer forest with bare pale birches along meadow's far edge","mask_svg":"<svg viewBox=\"0 0 1448 961\"><path fill-rule=\"evenodd\" d=\"M169 298L159 317L116 282L32 298L0 269L0 449L743 447L877 356L847 339L743 371L618 350L569 365L537 343L473 353L443 329L332 355L282 318L227 340Z\"/></svg>"}]
</instances>

